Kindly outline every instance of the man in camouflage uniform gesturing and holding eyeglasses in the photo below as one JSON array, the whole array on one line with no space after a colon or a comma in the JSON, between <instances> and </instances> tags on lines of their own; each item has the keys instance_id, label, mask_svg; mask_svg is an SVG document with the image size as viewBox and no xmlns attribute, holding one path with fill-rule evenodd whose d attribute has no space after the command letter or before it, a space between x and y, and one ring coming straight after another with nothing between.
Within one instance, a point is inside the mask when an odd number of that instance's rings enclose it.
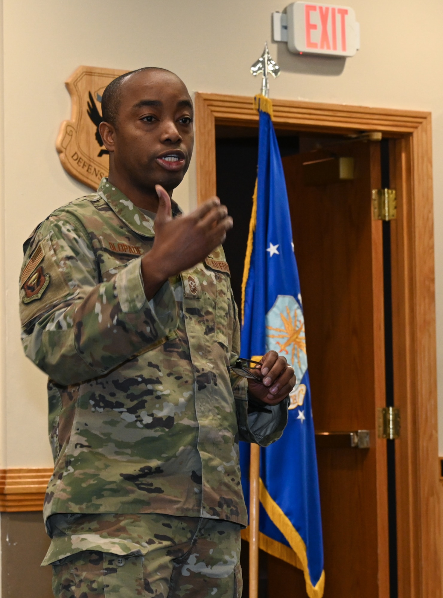
<instances>
[{"instance_id":1,"label":"man in camouflage uniform gesturing and holding eyeglasses","mask_svg":"<svg viewBox=\"0 0 443 598\"><path fill-rule=\"evenodd\" d=\"M61 598L240 596L238 441L280 437L293 370L275 352L262 382L230 368L232 219L217 198L171 206L193 147L183 82L140 69L102 110L109 179L36 228L20 277L25 352L49 376L44 564Z\"/></svg>"}]
</instances>

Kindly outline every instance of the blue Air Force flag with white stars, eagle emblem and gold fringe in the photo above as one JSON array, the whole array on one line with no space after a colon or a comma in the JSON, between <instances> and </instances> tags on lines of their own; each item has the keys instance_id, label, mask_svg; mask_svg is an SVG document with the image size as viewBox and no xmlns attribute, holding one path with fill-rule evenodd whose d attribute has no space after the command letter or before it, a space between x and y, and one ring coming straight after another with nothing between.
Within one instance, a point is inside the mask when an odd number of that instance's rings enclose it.
<instances>
[{"instance_id":1,"label":"blue Air Force flag with white stars, eagle emblem and gold fringe","mask_svg":"<svg viewBox=\"0 0 443 598\"><path fill-rule=\"evenodd\" d=\"M268 102L260 106L259 164L245 260L241 354L274 349L295 370L283 437L260 450L260 548L304 570L310 598L324 589L323 540L305 324L286 184ZM270 111L270 110L269 110ZM303 223L298 223L303 225ZM241 443L248 498L249 447ZM248 501L247 501L248 504Z\"/></svg>"}]
</instances>

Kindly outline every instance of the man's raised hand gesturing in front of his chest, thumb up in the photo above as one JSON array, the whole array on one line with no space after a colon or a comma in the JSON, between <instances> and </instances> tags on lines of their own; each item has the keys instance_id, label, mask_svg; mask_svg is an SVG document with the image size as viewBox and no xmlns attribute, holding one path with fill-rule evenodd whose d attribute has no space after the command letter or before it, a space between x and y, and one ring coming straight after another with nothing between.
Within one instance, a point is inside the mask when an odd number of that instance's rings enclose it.
<instances>
[{"instance_id":1,"label":"man's raised hand gesturing in front of his chest, thumb up","mask_svg":"<svg viewBox=\"0 0 443 598\"><path fill-rule=\"evenodd\" d=\"M192 268L226 239L232 218L226 206L213 197L187 216L172 218L171 198L156 185L159 208L154 221L155 239L150 252L142 258L145 294L152 298L174 274Z\"/></svg>"}]
</instances>

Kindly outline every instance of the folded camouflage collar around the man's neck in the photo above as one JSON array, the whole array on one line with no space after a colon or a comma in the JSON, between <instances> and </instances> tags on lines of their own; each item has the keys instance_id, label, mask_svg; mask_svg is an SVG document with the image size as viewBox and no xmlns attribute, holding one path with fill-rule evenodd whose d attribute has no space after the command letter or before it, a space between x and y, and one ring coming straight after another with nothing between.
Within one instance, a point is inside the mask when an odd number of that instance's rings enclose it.
<instances>
[{"instance_id":1,"label":"folded camouflage collar around the man's neck","mask_svg":"<svg viewBox=\"0 0 443 598\"><path fill-rule=\"evenodd\" d=\"M102 178L97 193L133 231L144 237L153 237L155 235L153 219L139 210L122 191L117 187L113 187L106 177ZM172 215L180 216L182 212L177 203L171 200L171 205Z\"/></svg>"}]
</instances>

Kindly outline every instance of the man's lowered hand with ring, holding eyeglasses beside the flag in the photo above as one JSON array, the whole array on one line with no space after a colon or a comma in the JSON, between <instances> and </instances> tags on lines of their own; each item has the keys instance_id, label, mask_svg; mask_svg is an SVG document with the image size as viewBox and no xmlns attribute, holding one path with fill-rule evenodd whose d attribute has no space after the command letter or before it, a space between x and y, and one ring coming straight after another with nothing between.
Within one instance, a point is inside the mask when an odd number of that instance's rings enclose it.
<instances>
[{"instance_id":1,"label":"man's lowered hand with ring, holding eyeglasses beside the flag","mask_svg":"<svg viewBox=\"0 0 443 598\"><path fill-rule=\"evenodd\" d=\"M263 355L261 365L257 365L255 371L262 376L262 382L248 378L248 392L252 398L268 405L277 405L283 401L297 382L294 368L277 351L268 351Z\"/></svg>"}]
</instances>

